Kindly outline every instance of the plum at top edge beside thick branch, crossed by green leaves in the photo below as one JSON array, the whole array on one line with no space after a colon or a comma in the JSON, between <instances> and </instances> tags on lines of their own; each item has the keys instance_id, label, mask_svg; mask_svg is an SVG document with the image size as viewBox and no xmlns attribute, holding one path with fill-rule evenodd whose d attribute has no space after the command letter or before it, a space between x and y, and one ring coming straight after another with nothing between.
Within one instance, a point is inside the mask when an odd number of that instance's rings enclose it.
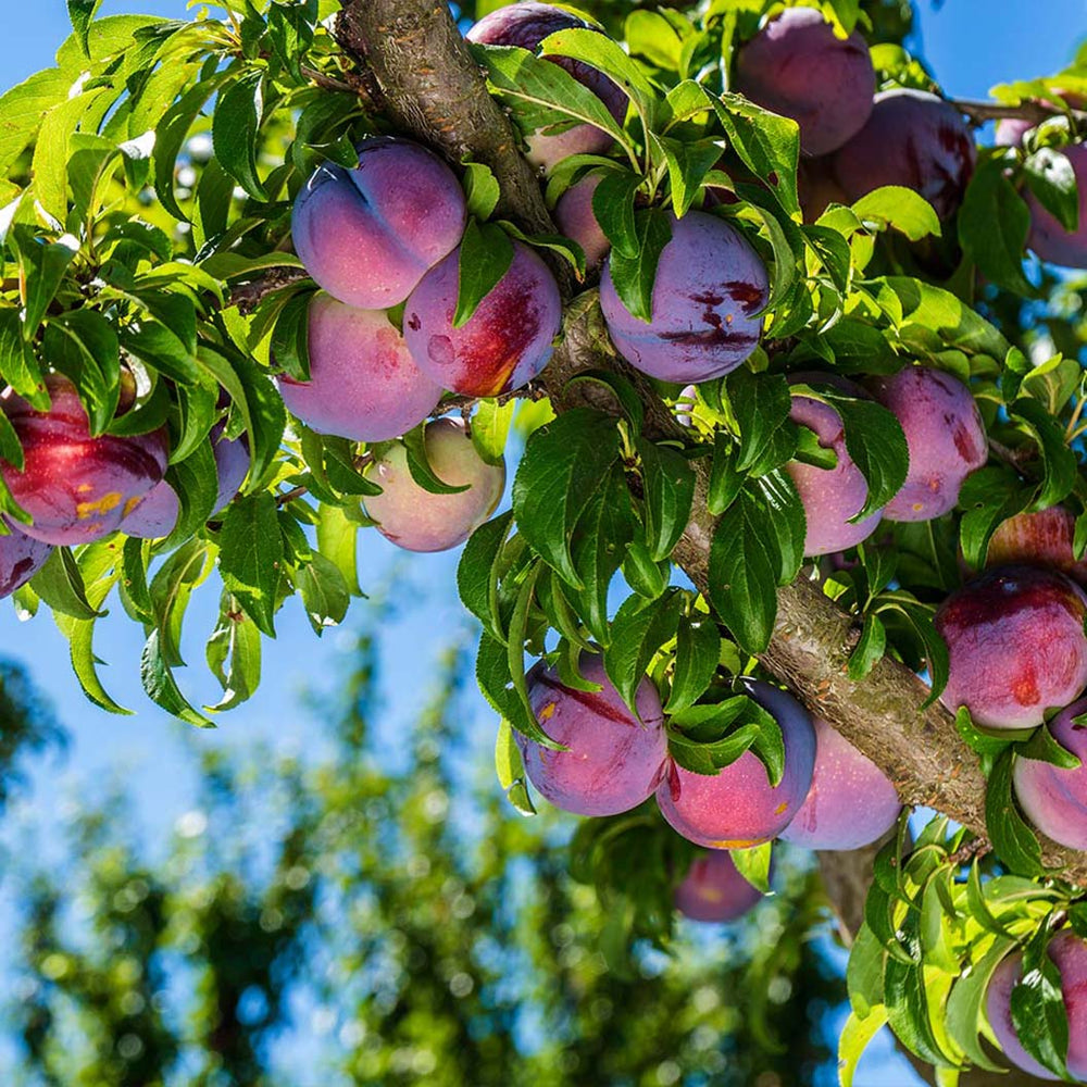
<instances>
[{"instance_id":1,"label":"plum at top edge beside thick branch, crossed by green leaves","mask_svg":"<svg viewBox=\"0 0 1087 1087\"><path fill-rule=\"evenodd\" d=\"M584 20L549 3L511 3L492 11L465 35L468 41L487 46L517 46L536 52L539 43L559 30L592 29ZM549 61L565 68L578 83L588 87L619 122L626 116L626 95L602 72L566 57L549 57ZM525 158L534 165L550 171L557 162L571 154L603 154L612 146L612 137L596 125L575 125L554 136L533 133L525 141Z\"/></svg>"}]
</instances>

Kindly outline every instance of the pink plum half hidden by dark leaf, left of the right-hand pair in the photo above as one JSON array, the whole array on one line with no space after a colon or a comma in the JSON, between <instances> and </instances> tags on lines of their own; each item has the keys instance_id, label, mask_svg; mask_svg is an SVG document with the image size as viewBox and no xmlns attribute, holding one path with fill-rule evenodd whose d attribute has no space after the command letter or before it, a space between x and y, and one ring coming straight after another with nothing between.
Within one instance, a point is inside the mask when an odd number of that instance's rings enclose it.
<instances>
[{"instance_id":1,"label":"pink plum half hidden by dark leaf, left of the right-hand pair","mask_svg":"<svg viewBox=\"0 0 1087 1087\"><path fill-rule=\"evenodd\" d=\"M813 379L824 380L822 374L812 376ZM849 518L860 513L867 501L869 484L846 450L841 416L822 400L795 396L789 418L813 430L819 443L824 449L833 449L838 458L833 468L821 468L802 461L789 461L785 465L800 493L808 520L804 554L828 554L854 547L876 530L880 513L877 510L850 524Z\"/></svg>"}]
</instances>

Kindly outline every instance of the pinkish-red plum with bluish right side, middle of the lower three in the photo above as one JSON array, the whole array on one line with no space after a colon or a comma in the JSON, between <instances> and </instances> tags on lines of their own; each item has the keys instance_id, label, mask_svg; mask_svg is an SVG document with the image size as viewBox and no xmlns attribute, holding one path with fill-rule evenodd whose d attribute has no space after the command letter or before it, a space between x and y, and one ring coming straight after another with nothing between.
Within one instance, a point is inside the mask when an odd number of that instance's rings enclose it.
<instances>
[{"instance_id":1,"label":"pinkish-red plum with bluish right side, middle of the lower three","mask_svg":"<svg viewBox=\"0 0 1087 1087\"><path fill-rule=\"evenodd\" d=\"M657 803L672 828L699 846L744 849L779 835L792 822L812 784L815 732L808 711L784 690L760 679L744 692L782 726L785 773L775 788L758 755L745 751L715 776L673 762L657 788Z\"/></svg>"}]
</instances>

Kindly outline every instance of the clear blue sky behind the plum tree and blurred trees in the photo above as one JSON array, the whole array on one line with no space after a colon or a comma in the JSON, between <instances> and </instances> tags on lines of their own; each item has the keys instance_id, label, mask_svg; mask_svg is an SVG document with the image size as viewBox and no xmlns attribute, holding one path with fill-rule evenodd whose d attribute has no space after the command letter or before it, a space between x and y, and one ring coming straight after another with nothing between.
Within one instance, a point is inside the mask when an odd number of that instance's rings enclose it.
<instances>
[{"instance_id":1,"label":"clear blue sky behind the plum tree and blurred trees","mask_svg":"<svg viewBox=\"0 0 1087 1087\"><path fill-rule=\"evenodd\" d=\"M11 3L4 23L0 89L51 63L67 34L64 0L24 0ZM196 5L193 5L196 7ZM105 0L102 14L145 12L186 17L184 0ZM940 10L921 3L920 46L946 90L958 97L985 97L989 87L1013 78L1053 72L1071 60L1087 32L1087 0L946 0ZM393 622L383 644L387 675L393 678L384 726L388 735L408 721L426 696L429 660L462 627L455 599L454 555L403 557L376 533L361 537L360 571L364 588L376 589L392 578L401 598L423 598L424 604ZM187 621L189 670L183 676L193 701L213 701L214 683L203 666L203 640L214 623L217 592L198 594ZM364 608L365 602L354 608ZM30 844L50 852L49 827L61 816L65 798L97 795L111 778L132 788L148 841L162 840L191 802L188 782L178 767L187 764L184 748L198 745L245 744L257 737L305 749L314 727L300 701L305 686L328 689L346 666L351 644L333 630L313 636L297 601L288 603L278 621L279 638L265 645L264 682L245 707L225 715L215 732L193 734L158 711L140 690L138 678L140 630L120 612L100 625L96 647L109 662L102 675L113 696L138 711L116 717L98 711L83 697L67 662L67 647L48 614L18 623L9 607L0 605L0 652L26 663L36 682L53 699L58 714L73 735L66 760L47 760L33 766L34 791L14 805L0 828L0 844L26 850ZM474 714L487 747L490 714L482 699ZM43 829L42 829L43 828ZM55 841L55 839L53 839ZM55 847L53 847L55 848ZM10 916L10 890L0 882L0 946ZM0 962L0 970L3 969ZM886 1062L886 1047L862 1066L858 1087L907 1087L920 1083L904 1064ZM0 1046L0 1073L3 1049ZM308 1087L301 1084L300 1087Z\"/></svg>"}]
</instances>

